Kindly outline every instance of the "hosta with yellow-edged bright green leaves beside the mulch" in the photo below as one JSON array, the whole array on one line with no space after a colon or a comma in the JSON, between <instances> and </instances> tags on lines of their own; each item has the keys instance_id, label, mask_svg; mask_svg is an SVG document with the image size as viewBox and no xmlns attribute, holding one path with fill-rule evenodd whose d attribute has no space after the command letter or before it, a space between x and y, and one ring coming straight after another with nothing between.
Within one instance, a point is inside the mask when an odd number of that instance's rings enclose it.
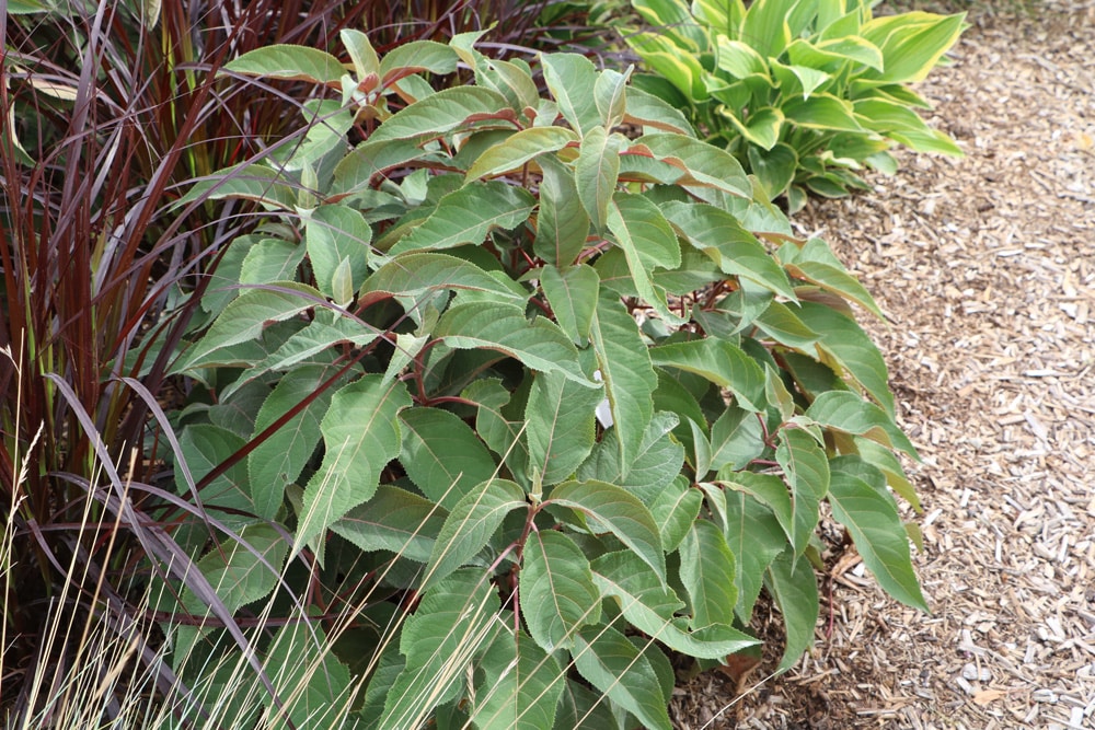
<instances>
[{"instance_id":1,"label":"hosta with yellow-edged bright green leaves beside the mulch","mask_svg":"<svg viewBox=\"0 0 1095 730\"><path fill-rule=\"evenodd\" d=\"M961 154L917 114L923 80L958 39L965 13L875 18L877 0L632 0L650 32L625 36L654 72L636 85L684 109L774 198L864 187L892 172L895 143Z\"/></svg>"}]
</instances>

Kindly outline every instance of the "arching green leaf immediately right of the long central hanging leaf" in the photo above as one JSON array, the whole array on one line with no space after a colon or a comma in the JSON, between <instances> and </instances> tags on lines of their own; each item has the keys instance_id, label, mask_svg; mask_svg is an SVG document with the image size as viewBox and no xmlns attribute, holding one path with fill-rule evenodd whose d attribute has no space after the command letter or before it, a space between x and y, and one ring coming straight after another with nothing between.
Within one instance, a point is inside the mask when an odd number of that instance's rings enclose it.
<instances>
[{"instance_id":1,"label":"arching green leaf immediately right of the long central hanging leaf","mask_svg":"<svg viewBox=\"0 0 1095 730\"><path fill-rule=\"evenodd\" d=\"M708 337L652 347L650 361L662 368L695 373L728 389L744 408L764 409L764 371L733 343Z\"/></svg>"}]
</instances>

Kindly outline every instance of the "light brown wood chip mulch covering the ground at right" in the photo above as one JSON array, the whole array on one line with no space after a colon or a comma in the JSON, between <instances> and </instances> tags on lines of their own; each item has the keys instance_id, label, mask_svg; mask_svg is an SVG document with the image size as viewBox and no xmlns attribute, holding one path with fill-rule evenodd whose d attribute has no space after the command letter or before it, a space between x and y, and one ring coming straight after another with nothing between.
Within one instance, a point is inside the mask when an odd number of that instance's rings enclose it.
<instances>
[{"instance_id":1,"label":"light brown wood chip mulch covering the ground at right","mask_svg":"<svg viewBox=\"0 0 1095 730\"><path fill-rule=\"evenodd\" d=\"M798 218L889 315L933 613L851 551L815 649L684 685L680 728L1095 728L1095 3L986 4L919 88L967 158Z\"/></svg>"}]
</instances>

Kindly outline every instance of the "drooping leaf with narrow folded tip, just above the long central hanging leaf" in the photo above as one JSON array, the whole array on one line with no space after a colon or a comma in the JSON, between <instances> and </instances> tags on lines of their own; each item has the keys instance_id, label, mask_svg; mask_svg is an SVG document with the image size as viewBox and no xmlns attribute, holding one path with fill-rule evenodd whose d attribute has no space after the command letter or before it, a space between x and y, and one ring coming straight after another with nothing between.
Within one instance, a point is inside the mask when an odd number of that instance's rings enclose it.
<instances>
[{"instance_id":1,"label":"drooping leaf with narrow folded tip, just above the long central hanging leaf","mask_svg":"<svg viewBox=\"0 0 1095 730\"><path fill-rule=\"evenodd\" d=\"M681 248L669 222L656 205L642 195L616 193L609 204L607 224L612 240L627 258L627 269L639 297L670 324L684 320L669 311L665 296L655 291L650 275L655 267L675 269Z\"/></svg>"}]
</instances>

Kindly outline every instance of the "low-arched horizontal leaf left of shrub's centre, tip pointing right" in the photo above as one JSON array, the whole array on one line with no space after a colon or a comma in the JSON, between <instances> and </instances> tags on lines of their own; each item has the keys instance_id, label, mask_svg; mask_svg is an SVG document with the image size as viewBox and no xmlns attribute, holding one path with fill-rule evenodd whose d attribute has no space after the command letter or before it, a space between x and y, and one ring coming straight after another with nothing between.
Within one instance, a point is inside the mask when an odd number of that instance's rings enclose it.
<instances>
[{"instance_id":1,"label":"low-arched horizontal leaf left of shrub's centre, tip pointing right","mask_svg":"<svg viewBox=\"0 0 1095 730\"><path fill-rule=\"evenodd\" d=\"M489 292L521 303L528 299L521 288L498 274L487 274L475 264L429 252L396 256L365 281L361 299L371 303L382 296L414 297L442 289Z\"/></svg>"}]
</instances>

